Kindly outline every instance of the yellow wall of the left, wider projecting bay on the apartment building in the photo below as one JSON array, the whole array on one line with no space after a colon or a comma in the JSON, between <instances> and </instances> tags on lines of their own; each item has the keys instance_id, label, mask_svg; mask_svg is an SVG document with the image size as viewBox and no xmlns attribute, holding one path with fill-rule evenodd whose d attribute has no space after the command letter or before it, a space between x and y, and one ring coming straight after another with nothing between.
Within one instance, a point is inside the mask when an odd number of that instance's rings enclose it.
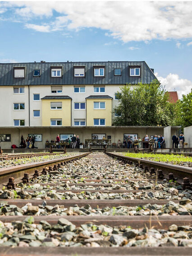
<instances>
[{"instance_id":1,"label":"yellow wall of the left, wider projecting bay on the apartment building","mask_svg":"<svg viewBox=\"0 0 192 256\"><path fill-rule=\"evenodd\" d=\"M62 102L62 109L51 110L51 102ZM71 126L71 100L42 100L42 126L50 126L50 119L62 119L62 126Z\"/></svg>"}]
</instances>

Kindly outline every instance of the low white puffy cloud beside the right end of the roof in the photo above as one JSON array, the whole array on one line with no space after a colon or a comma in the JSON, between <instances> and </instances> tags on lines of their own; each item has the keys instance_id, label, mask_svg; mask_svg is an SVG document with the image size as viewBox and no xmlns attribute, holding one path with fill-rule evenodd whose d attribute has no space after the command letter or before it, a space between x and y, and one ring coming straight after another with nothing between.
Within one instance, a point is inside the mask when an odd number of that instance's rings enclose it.
<instances>
[{"instance_id":1,"label":"low white puffy cloud beside the right end of the roof","mask_svg":"<svg viewBox=\"0 0 192 256\"><path fill-rule=\"evenodd\" d=\"M180 99L183 94L186 95L192 89L192 81L179 78L178 74L169 73L166 78L163 78L158 76L158 73L155 73L155 76L162 85L165 85L167 91L177 91Z\"/></svg>"}]
</instances>

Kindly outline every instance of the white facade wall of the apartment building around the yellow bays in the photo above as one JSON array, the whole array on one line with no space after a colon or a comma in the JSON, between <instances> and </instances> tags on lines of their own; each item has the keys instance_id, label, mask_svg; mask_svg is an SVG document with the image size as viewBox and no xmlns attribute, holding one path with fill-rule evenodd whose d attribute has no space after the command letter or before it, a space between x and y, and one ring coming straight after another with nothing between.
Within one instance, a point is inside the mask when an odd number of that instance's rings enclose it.
<instances>
[{"instance_id":1,"label":"white facade wall of the apartment building around the yellow bays","mask_svg":"<svg viewBox=\"0 0 192 256\"><path fill-rule=\"evenodd\" d=\"M82 87L80 85L79 87ZM95 85L97 86L97 85ZM98 87L103 85L98 85ZM0 102L3 108L0 109L0 127L14 126L14 119L24 119L25 126L41 126L42 125L42 106L41 98L45 96L61 96L67 95L72 98L72 126L74 119L86 119L86 110L74 110L75 102L86 102L86 97L90 95L109 95L113 97L112 109L118 104L115 100L115 92L120 91L119 85L105 85L105 92L95 93L94 85L85 85L85 93L74 93L73 85L63 85L62 93L51 93L50 85L41 86L22 86L25 88L24 93L14 93L16 86L1 86L0 87ZM75 85L77 87L77 85ZM33 100L33 94L40 94L40 101ZM30 99L30 117L29 117L29 102ZM58 100L59 101L59 100ZM14 103L25 103L25 110L14 110ZM33 110L40 110L40 117L33 117Z\"/></svg>"}]
</instances>

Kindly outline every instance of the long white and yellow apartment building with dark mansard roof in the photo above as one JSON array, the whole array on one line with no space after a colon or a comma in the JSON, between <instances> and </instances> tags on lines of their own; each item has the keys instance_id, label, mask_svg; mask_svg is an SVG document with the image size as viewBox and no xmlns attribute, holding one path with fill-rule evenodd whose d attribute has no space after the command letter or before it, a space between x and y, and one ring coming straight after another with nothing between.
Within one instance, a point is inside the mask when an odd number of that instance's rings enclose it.
<instances>
[{"instance_id":1,"label":"long white and yellow apartment building with dark mansard roof","mask_svg":"<svg viewBox=\"0 0 192 256\"><path fill-rule=\"evenodd\" d=\"M13 138L41 130L43 146L57 133L87 131L80 135L84 140L103 128L112 131L119 87L154 79L145 61L0 64L0 134Z\"/></svg>"}]
</instances>

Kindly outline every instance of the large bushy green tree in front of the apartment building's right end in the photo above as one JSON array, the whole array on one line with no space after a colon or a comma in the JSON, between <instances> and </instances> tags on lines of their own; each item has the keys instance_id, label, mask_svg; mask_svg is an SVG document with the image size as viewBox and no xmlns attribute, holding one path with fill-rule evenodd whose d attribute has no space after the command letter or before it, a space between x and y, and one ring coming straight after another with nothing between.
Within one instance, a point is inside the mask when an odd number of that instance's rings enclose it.
<instances>
[{"instance_id":1,"label":"large bushy green tree in front of the apartment building's right end","mask_svg":"<svg viewBox=\"0 0 192 256\"><path fill-rule=\"evenodd\" d=\"M119 105L114 108L114 125L171 125L174 105L157 80L120 87Z\"/></svg>"}]
</instances>

